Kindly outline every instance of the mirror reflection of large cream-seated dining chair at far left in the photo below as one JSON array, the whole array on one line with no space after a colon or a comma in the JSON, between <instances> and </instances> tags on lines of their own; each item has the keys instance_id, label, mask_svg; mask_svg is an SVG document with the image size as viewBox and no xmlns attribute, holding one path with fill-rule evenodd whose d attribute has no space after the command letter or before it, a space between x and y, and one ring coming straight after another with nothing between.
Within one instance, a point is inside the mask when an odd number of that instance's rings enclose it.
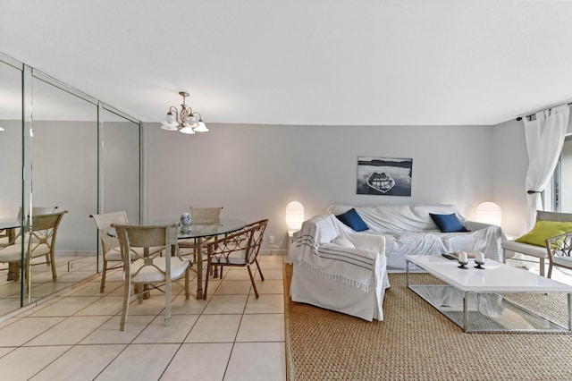
<instances>
[{"instance_id":1,"label":"mirror reflection of large cream-seated dining chair at far left","mask_svg":"<svg viewBox=\"0 0 572 381\"><path fill-rule=\"evenodd\" d=\"M55 270L55 237L57 228L67 210L46 215L32 215L31 223L28 218L24 229L24 274L28 280L31 276L31 267L36 265L51 265L52 279L57 280ZM44 262L35 261L35 258L46 257ZM20 279L21 244L13 244L0 249L0 262L14 263L13 280Z\"/></svg>"}]
</instances>

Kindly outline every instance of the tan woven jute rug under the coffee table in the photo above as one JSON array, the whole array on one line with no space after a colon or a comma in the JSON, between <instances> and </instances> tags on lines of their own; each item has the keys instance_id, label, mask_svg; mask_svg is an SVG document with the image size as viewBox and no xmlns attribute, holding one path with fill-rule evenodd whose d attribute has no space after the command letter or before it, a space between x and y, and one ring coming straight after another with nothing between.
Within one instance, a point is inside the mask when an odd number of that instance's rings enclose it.
<instances>
[{"instance_id":1,"label":"tan woven jute rug under the coffee table","mask_svg":"<svg viewBox=\"0 0 572 381\"><path fill-rule=\"evenodd\" d=\"M572 334L466 334L408 290L405 274L390 274L384 320L366 322L290 301L291 269L284 266L290 380L572 380ZM566 321L562 295L528 296Z\"/></svg>"}]
</instances>

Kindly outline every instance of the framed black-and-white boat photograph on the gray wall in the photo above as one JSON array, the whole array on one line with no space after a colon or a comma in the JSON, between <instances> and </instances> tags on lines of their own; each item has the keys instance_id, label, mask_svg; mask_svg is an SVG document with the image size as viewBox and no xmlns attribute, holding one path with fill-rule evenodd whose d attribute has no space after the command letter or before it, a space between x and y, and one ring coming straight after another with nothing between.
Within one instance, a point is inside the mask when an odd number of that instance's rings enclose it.
<instances>
[{"instance_id":1,"label":"framed black-and-white boat photograph on the gray wall","mask_svg":"<svg viewBox=\"0 0 572 381\"><path fill-rule=\"evenodd\" d=\"M357 194L411 196L412 158L357 157Z\"/></svg>"}]
</instances>

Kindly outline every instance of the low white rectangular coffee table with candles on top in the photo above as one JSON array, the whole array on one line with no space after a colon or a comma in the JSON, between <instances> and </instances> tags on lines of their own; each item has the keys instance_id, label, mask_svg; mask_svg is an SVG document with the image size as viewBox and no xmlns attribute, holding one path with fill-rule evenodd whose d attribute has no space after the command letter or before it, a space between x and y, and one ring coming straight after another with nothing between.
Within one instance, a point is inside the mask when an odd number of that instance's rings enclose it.
<instances>
[{"instance_id":1,"label":"low white rectangular coffee table with candles on top","mask_svg":"<svg viewBox=\"0 0 572 381\"><path fill-rule=\"evenodd\" d=\"M438 309L465 332L570 332L572 330L572 286L486 259L484 269L467 269L442 256L408 255L408 288ZM410 284L410 264L445 284ZM564 293L568 302L568 326L562 326L531 311L502 294Z\"/></svg>"}]
</instances>

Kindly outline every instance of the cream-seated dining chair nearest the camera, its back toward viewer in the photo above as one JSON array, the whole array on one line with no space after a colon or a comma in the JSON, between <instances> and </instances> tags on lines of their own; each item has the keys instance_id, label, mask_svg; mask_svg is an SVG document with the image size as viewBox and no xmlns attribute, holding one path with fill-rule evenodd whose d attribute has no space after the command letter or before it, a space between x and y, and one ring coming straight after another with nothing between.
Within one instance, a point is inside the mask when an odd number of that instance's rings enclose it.
<instances>
[{"instance_id":1,"label":"cream-seated dining chair nearest the camera, its back toward viewer","mask_svg":"<svg viewBox=\"0 0 572 381\"><path fill-rule=\"evenodd\" d=\"M144 287L140 292L131 295L131 284L149 284L156 289L164 286L164 321L171 325L171 287L172 281L185 278L185 299L189 300L189 260L182 258L177 245L179 224L163 224L154 226L112 224L119 238L122 250L125 284L123 293L123 309L120 330L124 331L129 317L129 305L132 296L138 296L141 303ZM165 247L165 255L160 252L141 256L136 248Z\"/></svg>"}]
</instances>

